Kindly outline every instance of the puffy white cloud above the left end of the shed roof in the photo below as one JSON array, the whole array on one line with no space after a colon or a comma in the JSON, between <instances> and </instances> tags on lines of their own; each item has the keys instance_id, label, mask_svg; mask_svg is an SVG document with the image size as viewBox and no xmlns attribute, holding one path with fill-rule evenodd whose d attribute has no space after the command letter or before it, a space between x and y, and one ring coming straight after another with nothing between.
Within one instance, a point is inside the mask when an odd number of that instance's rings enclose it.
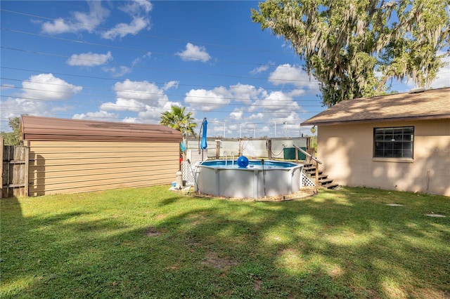
<instances>
[{"instance_id":1,"label":"puffy white cloud above the left end of the shed roof","mask_svg":"<svg viewBox=\"0 0 450 299\"><path fill-rule=\"evenodd\" d=\"M23 81L23 98L37 98L41 100L68 100L75 93L82 91L82 86L68 84L53 74L38 74Z\"/></svg>"}]
</instances>

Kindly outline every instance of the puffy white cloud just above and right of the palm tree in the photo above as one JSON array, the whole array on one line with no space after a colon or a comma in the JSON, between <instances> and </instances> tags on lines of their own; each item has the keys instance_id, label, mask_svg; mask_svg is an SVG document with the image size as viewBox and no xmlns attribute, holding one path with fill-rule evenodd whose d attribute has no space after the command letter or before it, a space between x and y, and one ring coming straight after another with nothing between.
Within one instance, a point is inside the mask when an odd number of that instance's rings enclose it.
<instances>
[{"instance_id":1,"label":"puffy white cloud just above and right of the palm tree","mask_svg":"<svg viewBox=\"0 0 450 299\"><path fill-rule=\"evenodd\" d=\"M184 102L191 104L194 109L200 111L211 111L224 107L231 102L231 93L223 86L216 87L210 91L205 89L191 89L186 93Z\"/></svg>"}]
</instances>

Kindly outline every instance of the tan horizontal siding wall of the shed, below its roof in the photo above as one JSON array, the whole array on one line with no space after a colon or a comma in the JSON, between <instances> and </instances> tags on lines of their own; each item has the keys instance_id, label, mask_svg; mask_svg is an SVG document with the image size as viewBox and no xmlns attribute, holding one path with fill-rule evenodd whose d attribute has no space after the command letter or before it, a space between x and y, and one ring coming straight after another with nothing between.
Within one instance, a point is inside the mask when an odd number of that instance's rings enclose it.
<instances>
[{"instance_id":1,"label":"tan horizontal siding wall of the shed, below its roof","mask_svg":"<svg viewBox=\"0 0 450 299\"><path fill-rule=\"evenodd\" d=\"M30 142L30 196L173 182L178 142Z\"/></svg>"}]
</instances>

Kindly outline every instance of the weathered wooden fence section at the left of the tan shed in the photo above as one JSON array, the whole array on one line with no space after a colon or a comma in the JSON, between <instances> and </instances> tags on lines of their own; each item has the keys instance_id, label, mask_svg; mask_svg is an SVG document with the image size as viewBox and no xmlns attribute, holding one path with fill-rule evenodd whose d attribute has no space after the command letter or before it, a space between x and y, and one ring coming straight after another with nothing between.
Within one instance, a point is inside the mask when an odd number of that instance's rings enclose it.
<instances>
[{"instance_id":1,"label":"weathered wooden fence section at the left of the tan shed","mask_svg":"<svg viewBox=\"0 0 450 299\"><path fill-rule=\"evenodd\" d=\"M27 197L30 147L4 145L3 138L0 138L0 145L2 157L0 199Z\"/></svg>"}]
</instances>

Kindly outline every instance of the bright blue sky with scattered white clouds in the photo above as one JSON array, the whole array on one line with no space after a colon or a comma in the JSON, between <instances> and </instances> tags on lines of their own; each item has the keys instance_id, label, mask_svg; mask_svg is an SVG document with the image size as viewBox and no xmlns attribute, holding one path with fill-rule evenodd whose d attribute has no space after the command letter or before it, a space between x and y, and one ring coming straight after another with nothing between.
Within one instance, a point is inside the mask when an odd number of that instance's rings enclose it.
<instances>
[{"instance_id":1,"label":"bright blue sky with scattered white clouds","mask_svg":"<svg viewBox=\"0 0 450 299\"><path fill-rule=\"evenodd\" d=\"M182 105L209 136L308 134L318 84L252 22L257 4L1 1L1 131L20 114L158 124ZM449 85L449 67L438 76Z\"/></svg>"}]
</instances>

